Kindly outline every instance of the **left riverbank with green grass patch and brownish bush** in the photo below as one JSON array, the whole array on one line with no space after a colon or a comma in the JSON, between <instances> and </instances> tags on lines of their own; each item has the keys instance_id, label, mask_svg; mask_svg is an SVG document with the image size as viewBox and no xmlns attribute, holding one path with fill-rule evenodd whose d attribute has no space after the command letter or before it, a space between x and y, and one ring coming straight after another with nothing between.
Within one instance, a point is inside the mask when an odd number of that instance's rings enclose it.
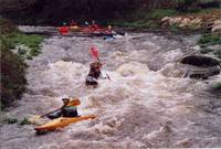
<instances>
[{"instance_id":1,"label":"left riverbank with green grass patch and brownish bush","mask_svg":"<svg viewBox=\"0 0 221 149\"><path fill-rule=\"evenodd\" d=\"M11 21L0 19L1 46L1 107L12 105L25 91L27 79L25 58L32 58L40 53L40 43L43 38L25 35L19 32ZM18 49L23 45L27 49ZM12 51L13 49L17 51Z\"/></svg>"}]
</instances>

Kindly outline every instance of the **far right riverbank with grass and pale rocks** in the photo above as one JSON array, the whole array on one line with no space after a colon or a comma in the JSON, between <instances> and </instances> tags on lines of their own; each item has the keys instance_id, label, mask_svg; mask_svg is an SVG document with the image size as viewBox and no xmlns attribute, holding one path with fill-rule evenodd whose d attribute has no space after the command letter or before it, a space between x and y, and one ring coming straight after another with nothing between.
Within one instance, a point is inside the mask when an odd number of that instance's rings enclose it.
<instances>
[{"instance_id":1,"label":"far right riverbank with grass and pale rocks","mask_svg":"<svg viewBox=\"0 0 221 149\"><path fill-rule=\"evenodd\" d=\"M133 14L129 13L124 19L114 20L109 24L133 31L220 32L220 9L202 9L196 10L196 12L180 12L175 9L140 9Z\"/></svg>"}]
</instances>

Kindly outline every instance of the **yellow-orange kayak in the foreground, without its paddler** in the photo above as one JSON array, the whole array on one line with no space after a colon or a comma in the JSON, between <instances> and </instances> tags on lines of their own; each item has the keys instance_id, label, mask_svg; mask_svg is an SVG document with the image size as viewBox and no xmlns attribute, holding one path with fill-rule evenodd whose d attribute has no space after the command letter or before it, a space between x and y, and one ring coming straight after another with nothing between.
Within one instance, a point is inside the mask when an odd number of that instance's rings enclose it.
<instances>
[{"instance_id":1,"label":"yellow-orange kayak in the foreground, without its paddler","mask_svg":"<svg viewBox=\"0 0 221 149\"><path fill-rule=\"evenodd\" d=\"M65 126L69 126L77 121L94 119L94 118L95 118L94 115L86 115L86 116L80 116L80 117L60 117L46 123L45 125L35 127L34 130L36 131L55 130L56 128L63 128Z\"/></svg>"}]
</instances>

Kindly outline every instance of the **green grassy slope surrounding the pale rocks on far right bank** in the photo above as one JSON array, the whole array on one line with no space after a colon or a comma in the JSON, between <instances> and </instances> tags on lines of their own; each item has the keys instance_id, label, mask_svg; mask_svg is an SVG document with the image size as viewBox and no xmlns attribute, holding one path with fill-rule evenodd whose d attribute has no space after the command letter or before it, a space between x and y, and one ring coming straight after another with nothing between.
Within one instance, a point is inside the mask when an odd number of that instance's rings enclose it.
<instances>
[{"instance_id":1,"label":"green grassy slope surrounding the pale rocks on far right bank","mask_svg":"<svg viewBox=\"0 0 221 149\"><path fill-rule=\"evenodd\" d=\"M139 9L133 13L129 13L124 19L116 19L109 22L109 24L115 26L129 28L134 30L170 30L173 32L178 31L207 31L208 24L211 20L219 19L221 15L220 9L196 9L191 11L178 11L176 9ZM202 26L198 28L196 24L190 26L181 28L178 23L172 23L169 25L164 25L162 19L169 18L200 18L202 21ZM200 22L201 23L201 22Z\"/></svg>"}]
</instances>

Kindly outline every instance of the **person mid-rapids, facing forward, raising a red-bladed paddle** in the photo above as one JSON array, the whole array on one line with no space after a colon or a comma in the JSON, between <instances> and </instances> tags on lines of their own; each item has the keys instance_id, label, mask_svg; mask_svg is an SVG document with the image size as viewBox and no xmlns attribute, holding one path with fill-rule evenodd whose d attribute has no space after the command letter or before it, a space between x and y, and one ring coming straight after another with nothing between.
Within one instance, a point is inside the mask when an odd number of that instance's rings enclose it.
<instances>
[{"instance_id":1,"label":"person mid-rapids, facing forward, raising a red-bladed paddle","mask_svg":"<svg viewBox=\"0 0 221 149\"><path fill-rule=\"evenodd\" d=\"M90 73L86 76L86 82L85 82L85 84L87 86L94 86L95 87L95 86L98 85L97 79L98 79L98 77L102 76L101 68L102 68L102 63L99 63L99 62L91 63Z\"/></svg>"}]
</instances>

